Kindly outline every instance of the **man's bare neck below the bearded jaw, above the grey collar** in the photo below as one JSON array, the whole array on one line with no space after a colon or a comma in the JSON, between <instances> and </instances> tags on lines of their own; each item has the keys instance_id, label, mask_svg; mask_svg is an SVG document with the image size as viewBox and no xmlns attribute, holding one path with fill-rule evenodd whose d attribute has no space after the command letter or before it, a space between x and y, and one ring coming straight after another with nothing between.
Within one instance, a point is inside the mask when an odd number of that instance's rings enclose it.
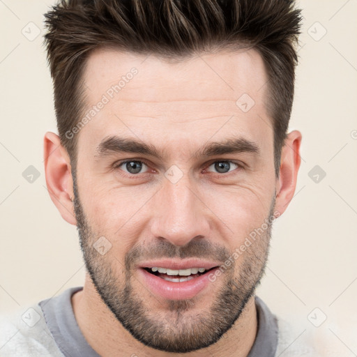
<instances>
[{"instance_id":1,"label":"man's bare neck below the bearded jaw, above the grey collar","mask_svg":"<svg viewBox=\"0 0 357 357\"><path fill-rule=\"evenodd\" d=\"M145 356L182 357L183 354L147 347L126 330L102 301L88 275L82 291L72 296L73 312L86 341L102 357ZM257 310L252 296L241 316L222 338L205 349L186 353L185 357L246 357L257 335Z\"/></svg>"}]
</instances>

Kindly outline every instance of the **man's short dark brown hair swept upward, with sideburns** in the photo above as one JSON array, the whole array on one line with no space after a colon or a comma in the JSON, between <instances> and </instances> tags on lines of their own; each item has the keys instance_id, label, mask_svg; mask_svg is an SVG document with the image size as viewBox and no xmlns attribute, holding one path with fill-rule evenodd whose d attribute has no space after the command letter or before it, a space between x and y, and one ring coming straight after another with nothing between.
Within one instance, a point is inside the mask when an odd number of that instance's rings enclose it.
<instances>
[{"instance_id":1,"label":"man's short dark brown hair swept upward, with sideburns","mask_svg":"<svg viewBox=\"0 0 357 357\"><path fill-rule=\"evenodd\" d=\"M84 112L86 59L99 47L183 59L215 49L254 48L268 74L266 106L273 119L275 172L294 99L295 44L301 10L294 0L61 0L45 14L47 59L61 144L76 166Z\"/></svg>"}]
</instances>

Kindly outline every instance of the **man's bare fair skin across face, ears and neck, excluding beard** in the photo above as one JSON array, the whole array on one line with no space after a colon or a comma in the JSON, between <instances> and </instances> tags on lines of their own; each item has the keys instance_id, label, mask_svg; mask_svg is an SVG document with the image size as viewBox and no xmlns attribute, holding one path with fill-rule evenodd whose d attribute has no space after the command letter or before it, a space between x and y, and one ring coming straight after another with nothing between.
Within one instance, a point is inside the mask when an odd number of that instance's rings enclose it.
<instances>
[{"instance_id":1,"label":"man's bare fair skin across face, ears and neck, excluding beard","mask_svg":"<svg viewBox=\"0 0 357 357\"><path fill-rule=\"evenodd\" d=\"M301 133L294 130L282 149L280 176L275 176L273 127L265 105L267 75L255 50L199 54L180 62L96 50L89 56L84 73L88 108L133 67L137 75L76 134L77 196L90 228L84 232L86 249L100 236L110 241L112 248L107 254L91 252L91 257L98 267L112 267L118 289L126 278L126 256L136 247L149 251L158 241L164 241L179 250L192 241L206 241L211 243L209 250L202 250L199 257L214 253L213 247L234 252L272 211L275 215L285 211L294 195L301 161ZM255 100L248 112L236 105L243 93ZM111 135L139 139L165 149L166 156L158 160L143 154L112 153L99 158L98 144ZM207 142L220 142L232 135L255 142L259 153L195 158L194 153ZM77 225L68 153L53 132L45 134L44 147L52 201L64 220ZM126 159L144 160L147 165L137 176L126 171L125 165L113 169L115 163ZM228 174L218 172L214 162L226 160L241 167L231 164ZM177 183L165 177L172 165L183 174ZM130 179L133 176L135 179ZM190 308L183 310L180 320L176 319L179 312L170 310L172 301L144 289L132 267L133 296L140 296L151 318L159 317L162 326L172 333L181 331L192 317L202 313L210 316L210 308L229 279L242 278L244 262L255 268L252 276L245 278L250 278L253 286L257 284L269 241L266 231L230 269L188 303ZM100 356L179 356L148 347L133 337L102 300L89 273L83 291L73 296L72 303L79 328ZM180 306L183 303L177 303L176 307ZM185 355L247 356L256 333L257 310L252 295L218 342Z\"/></svg>"}]
</instances>

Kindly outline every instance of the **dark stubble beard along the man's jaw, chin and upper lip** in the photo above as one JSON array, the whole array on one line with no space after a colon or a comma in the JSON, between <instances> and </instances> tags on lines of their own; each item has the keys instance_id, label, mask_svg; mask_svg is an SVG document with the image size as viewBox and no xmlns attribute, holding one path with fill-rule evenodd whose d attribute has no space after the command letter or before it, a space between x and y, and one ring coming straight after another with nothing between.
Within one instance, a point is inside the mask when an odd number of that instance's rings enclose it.
<instances>
[{"instance_id":1,"label":"dark stubble beard along the man's jaw, chin and upper lip","mask_svg":"<svg viewBox=\"0 0 357 357\"><path fill-rule=\"evenodd\" d=\"M135 339L142 344L172 353L187 353L211 346L218 342L235 322L241 317L245 305L255 294L255 289L260 283L268 258L269 243L271 239L271 223L268 229L259 236L254 245L251 245L240 257L238 273L235 273L236 261L222 273L217 282L221 284L220 292L213 298L210 307L197 310L199 299L196 297L184 300L169 300L165 310L152 311L148 299L142 298L139 291L135 291L132 274L137 258L146 258L143 252L146 248L136 247L126 253L125 262L121 263L111 255L100 255L93 248L93 243L100 235L91 227L81 202L79 201L77 183L73 178L75 193L74 208L79 232L79 244L82 249L86 270L88 271L94 287L116 319L128 330ZM269 218L273 215L275 200L271 204ZM170 245L170 246L169 246ZM212 247L208 254L202 255L210 245L204 240L190 241L185 247L174 247L167 242L165 248L162 243L157 252L158 257L210 257L218 261L227 261L231 252L222 248L213 252ZM162 249L163 248L163 249ZM140 253L141 252L141 253ZM162 255L162 252L165 252ZM193 255L200 252L200 255ZM211 254L210 254L211 253ZM124 269L124 274L121 272ZM119 277L124 276L123 281ZM225 283L222 282L225 280ZM137 282L138 284L140 282ZM138 285L137 284L137 285ZM144 286L140 285L140 291ZM144 291L147 294L147 290ZM158 299L151 294L152 299ZM153 301L158 304L158 301ZM195 310L195 311L194 311Z\"/></svg>"}]
</instances>

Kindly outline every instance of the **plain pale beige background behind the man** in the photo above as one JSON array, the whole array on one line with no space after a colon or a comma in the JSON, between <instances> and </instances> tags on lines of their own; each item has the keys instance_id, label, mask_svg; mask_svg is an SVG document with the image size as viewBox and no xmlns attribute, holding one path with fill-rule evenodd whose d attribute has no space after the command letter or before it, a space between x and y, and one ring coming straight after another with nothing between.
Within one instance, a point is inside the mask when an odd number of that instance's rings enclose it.
<instances>
[{"instance_id":1,"label":"plain pale beige background behind the man","mask_svg":"<svg viewBox=\"0 0 357 357\"><path fill-rule=\"evenodd\" d=\"M0 1L0 313L84 280L77 231L52 204L43 169L43 135L56 132L42 45L42 14L51 3ZM305 20L291 129L303 133L303 161L296 195L275 222L258 295L280 317L293 315L301 333L324 331L331 356L352 356L357 354L356 327L351 329L357 325L357 1L304 0L298 6ZM41 33L33 38L36 31ZM33 183L22 176L29 165L40 173ZM309 176L315 165L326 172L318 183ZM324 314L326 321L314 327Z\"/></svg>"}]
</instances>

